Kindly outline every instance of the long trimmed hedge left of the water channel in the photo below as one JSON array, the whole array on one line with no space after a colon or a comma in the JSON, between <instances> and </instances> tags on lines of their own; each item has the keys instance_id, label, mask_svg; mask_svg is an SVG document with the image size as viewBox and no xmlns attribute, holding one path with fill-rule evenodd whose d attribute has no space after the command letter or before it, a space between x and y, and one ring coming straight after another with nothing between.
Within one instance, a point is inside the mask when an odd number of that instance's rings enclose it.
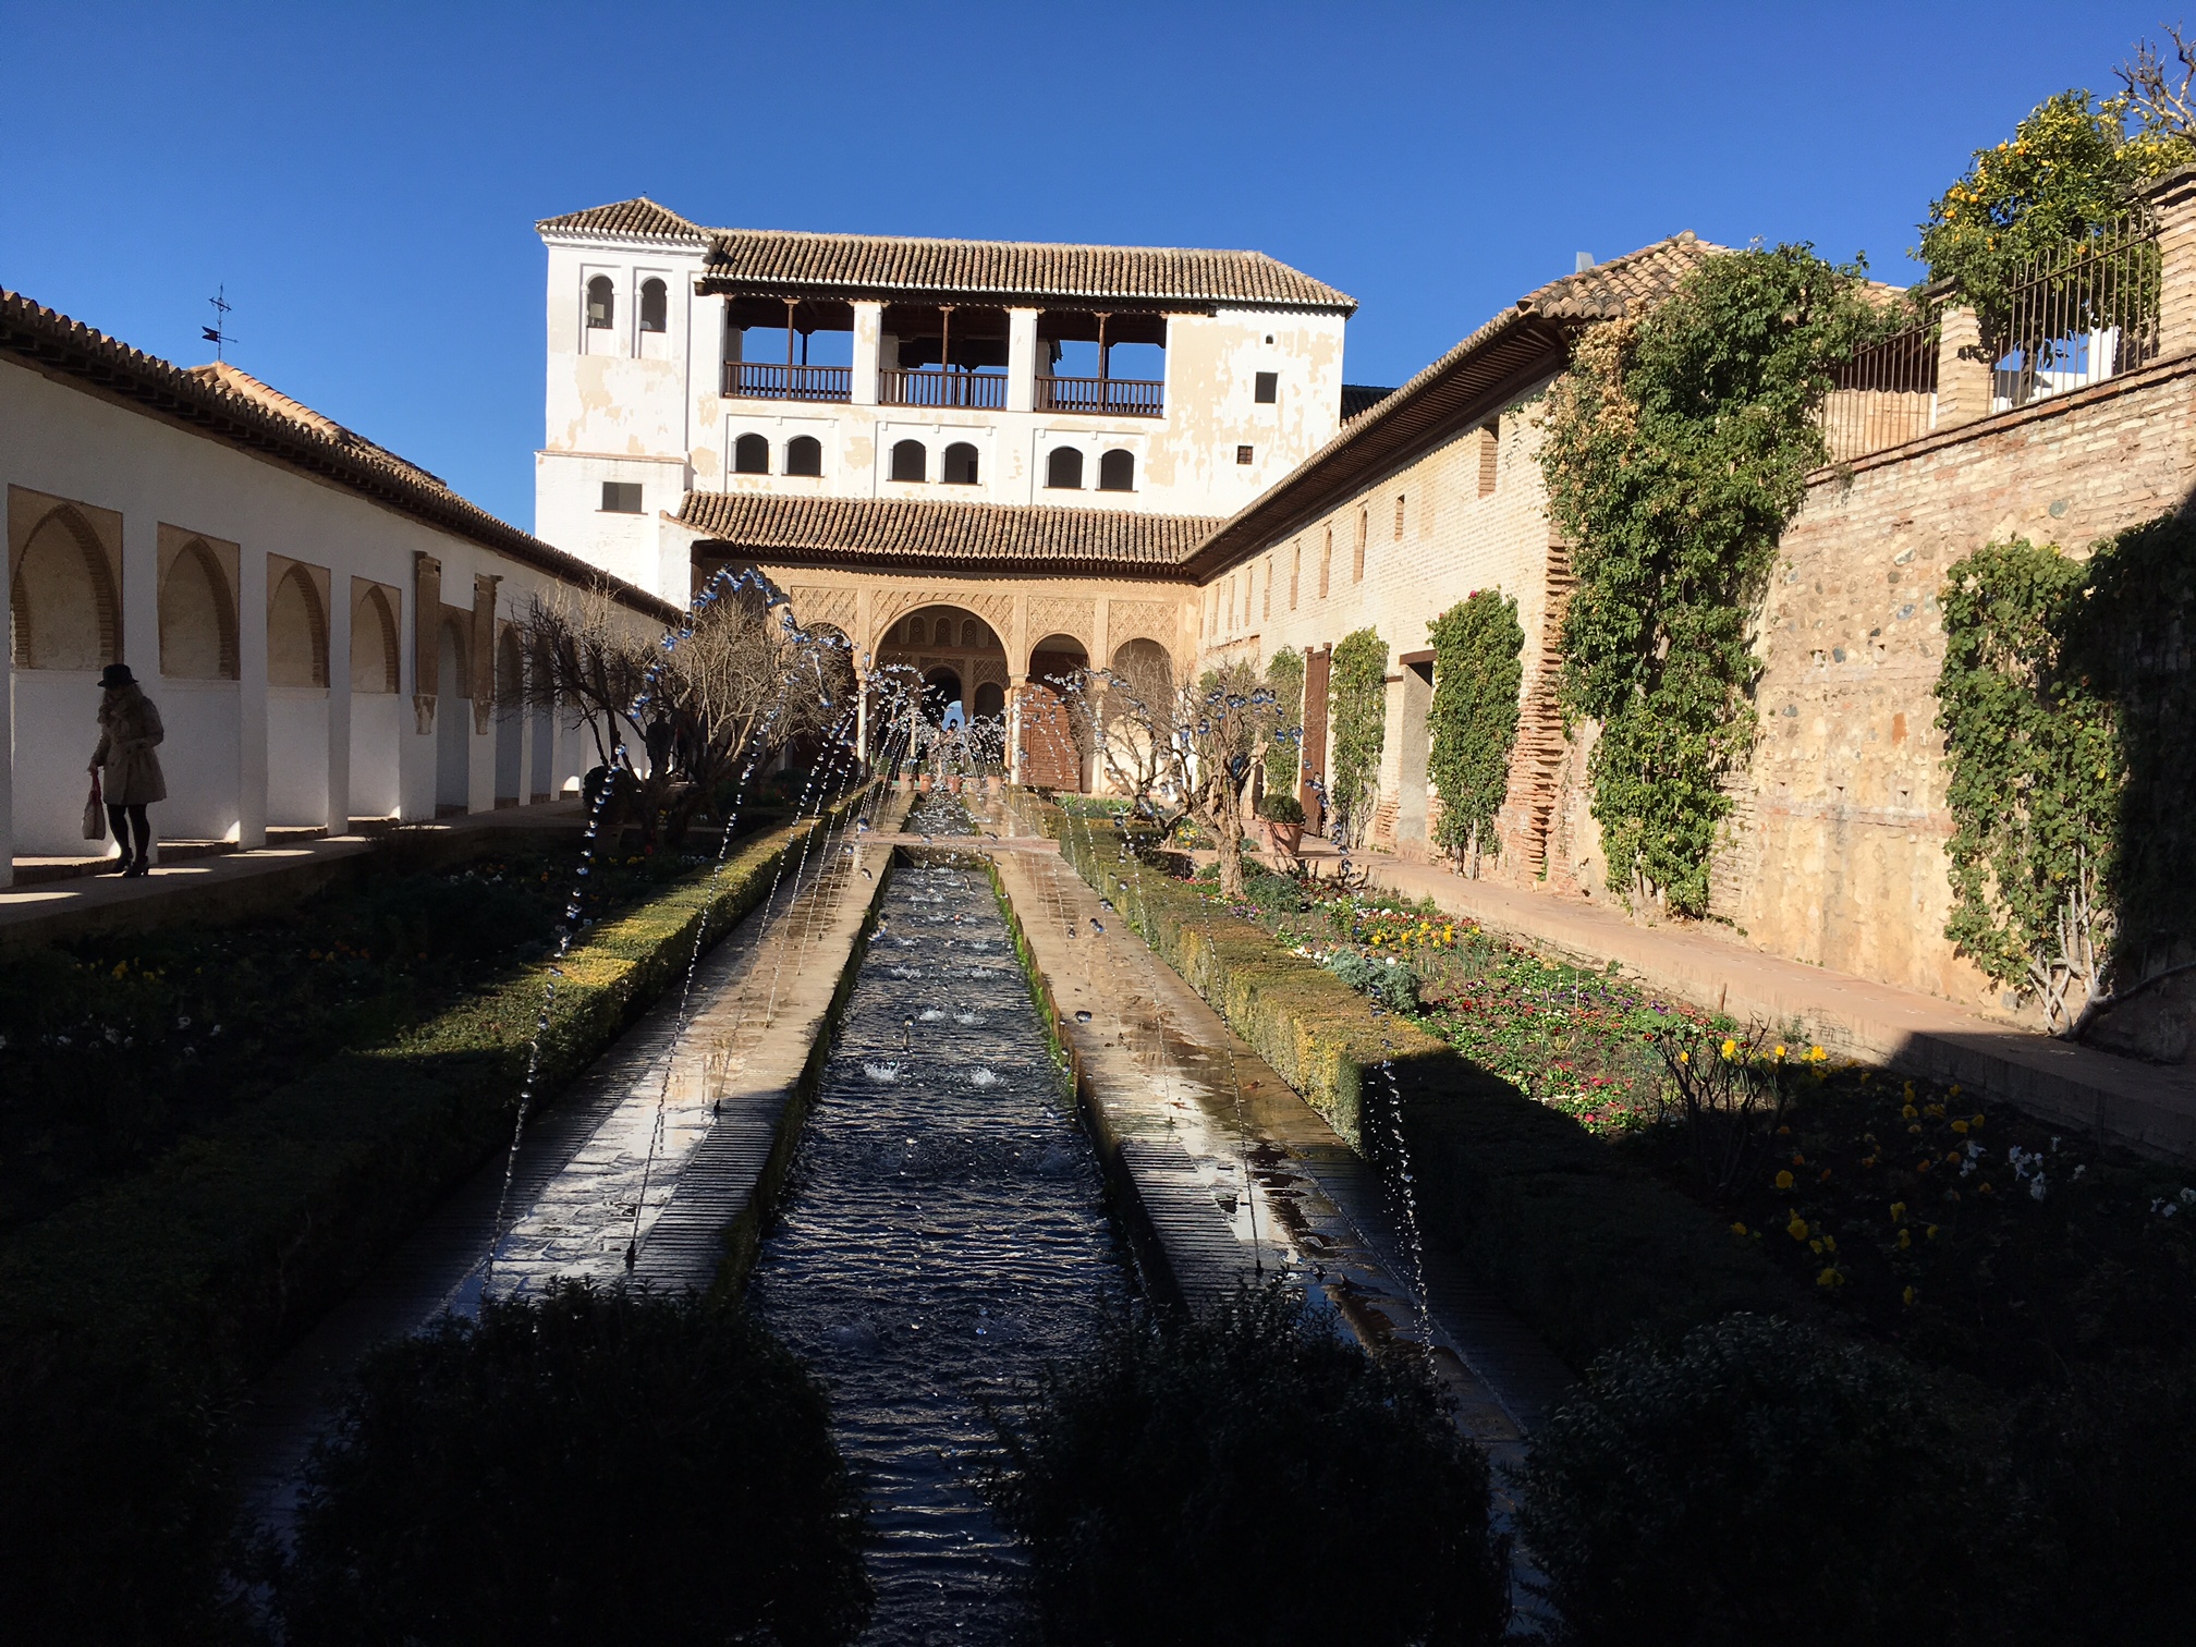
<instances>
[{"instance_id":1,"label":"long trimmed hedge left of the water channel","mask_svg":"<svg viewBox=\"0 0 2196 1647\"><path fill-rule=\"evenodd\" d=\"M810 826L606 920L562 962L540 1091L773 885ZM0 1616L191 1640L213 1601L226 1412L509 1138L542 966L345 1052L0 1247Z\"/></svg>"}]
</instances>

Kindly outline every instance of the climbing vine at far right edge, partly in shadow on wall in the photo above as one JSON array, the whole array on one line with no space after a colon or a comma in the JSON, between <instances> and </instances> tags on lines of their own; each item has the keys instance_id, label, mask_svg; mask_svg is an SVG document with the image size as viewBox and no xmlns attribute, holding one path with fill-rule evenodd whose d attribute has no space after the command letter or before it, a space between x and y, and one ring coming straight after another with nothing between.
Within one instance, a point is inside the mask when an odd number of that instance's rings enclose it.
<instances>
[{"instance_id":1,"label":"climbing vine at far right edge, partly in shadow on wall","mask_svg":"<svg viewBox=\"0 0 2196 1647\"><path fill-rule=\"evenodd\" d=\"M2185 964L2196 933L2196 525L2152 520L2086 562L1994 542L1950 569L1941 602L1946 935L2080 1034Z\"/></svg>"}]
</instances>

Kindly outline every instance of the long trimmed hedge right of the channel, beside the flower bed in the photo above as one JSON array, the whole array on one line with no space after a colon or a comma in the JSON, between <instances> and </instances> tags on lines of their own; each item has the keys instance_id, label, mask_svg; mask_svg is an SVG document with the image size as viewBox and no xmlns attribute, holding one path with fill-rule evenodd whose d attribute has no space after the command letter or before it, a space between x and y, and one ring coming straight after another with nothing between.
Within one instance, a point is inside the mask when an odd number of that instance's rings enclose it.
<instances>
[{"instance_id":1,"label":"long trimmed hedge right of the channel, beside the flower bed","mask_svg":"<svg viewBox=\"0 0 2196 1647\"><path fill-rule=\"evenodd\" d=\"M1375 1019L1357 990L1190 885L1120 861L1120 837L1023 802L1120 916L1355 1149L1381 1155L1386 1061L1427 1234L1572 1366L1640 1331L1735 1309L1812 1313L1713 1212L1452 1045ZM1129 885L1122 887L1120 883Z\"/></svg>"}]
</instances>

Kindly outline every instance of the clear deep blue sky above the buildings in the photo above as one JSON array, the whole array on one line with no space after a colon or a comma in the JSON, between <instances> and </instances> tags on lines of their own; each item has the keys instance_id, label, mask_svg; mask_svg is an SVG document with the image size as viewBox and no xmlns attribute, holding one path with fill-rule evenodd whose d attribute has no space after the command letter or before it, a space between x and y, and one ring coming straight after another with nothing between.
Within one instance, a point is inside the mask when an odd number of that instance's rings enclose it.
<instances>
[{"instance_id":1,"label":"clear deep blue sky above the buildings","mask_svg":"<svg viewBox=\"0 0 2196 1647\"><path fill-rule=\"evenodd\" d=\"M1693 228L1911 274L1924 204L2152 7L9 9L0 285L231 358L534 518L536 217L1256 246L1399 382ZM48 70L20 72L46 64Z\"/></svg>"}]
</instances>

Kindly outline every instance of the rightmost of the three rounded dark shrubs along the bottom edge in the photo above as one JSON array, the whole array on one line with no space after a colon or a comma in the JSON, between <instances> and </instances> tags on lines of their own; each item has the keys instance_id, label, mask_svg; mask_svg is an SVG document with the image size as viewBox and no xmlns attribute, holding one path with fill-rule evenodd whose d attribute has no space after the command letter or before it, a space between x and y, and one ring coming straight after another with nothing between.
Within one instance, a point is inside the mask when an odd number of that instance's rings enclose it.
<instances>
[{"instance_id":1,"label":"rightmost of the three rounded dark shrubs along the bottom edge","mask_svg":"<svg viewBox=\"0 0 2196 1647\"><path fill-rule=\"evenodd\" d=\"M1579 1643L2005 1640L1996 1460L1908 1364L1728 1315L1594 1364L1533 1443L1520 1526Z\"/></svg>"}]
</instances>

